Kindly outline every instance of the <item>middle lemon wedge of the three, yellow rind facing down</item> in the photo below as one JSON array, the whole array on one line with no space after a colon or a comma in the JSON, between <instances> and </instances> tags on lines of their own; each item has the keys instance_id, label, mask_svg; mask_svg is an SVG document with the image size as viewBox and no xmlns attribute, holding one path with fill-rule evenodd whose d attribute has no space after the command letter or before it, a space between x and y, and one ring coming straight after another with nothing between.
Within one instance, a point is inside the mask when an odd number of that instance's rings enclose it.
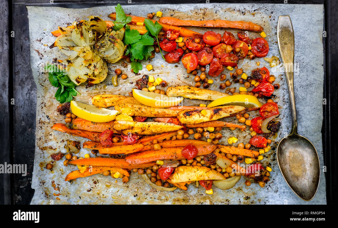
<instances>
[{"instance_id":1,"label":"middle lemon wedge of the three, yellow rind facing down","mask_svg":"<svg viewBox=\"0 0 338 228\"><path fill-rule=\"evenodd\" d=\"M141 104L153 108L169 108L172 106L178 106L184 99L184 97L167 96L139 89L133 89L132 96Z\"/></svg>"}]
</instances>

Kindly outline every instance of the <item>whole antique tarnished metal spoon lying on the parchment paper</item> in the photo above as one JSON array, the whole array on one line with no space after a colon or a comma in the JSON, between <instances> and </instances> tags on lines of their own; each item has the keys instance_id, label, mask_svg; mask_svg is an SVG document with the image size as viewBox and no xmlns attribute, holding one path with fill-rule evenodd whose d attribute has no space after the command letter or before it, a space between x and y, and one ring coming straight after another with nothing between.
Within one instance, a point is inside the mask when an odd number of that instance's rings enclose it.
<instances>
[{"instance_id":1,"label":"whole antique tarnished metal spoon lying on the parchment paper","mask_svg":"<svg viewBox=\"0 0 338 228\"><path fill-rule=\"evenodd\" d=\"M319 186L320 166L316 148L307 138L297 133L293 90L294 34L289 16L279 17L277 39L289 87L292 114L291 133L277 146L277 162L292 191L301 199L310 201Z\"/></svg>"}]
</instances>

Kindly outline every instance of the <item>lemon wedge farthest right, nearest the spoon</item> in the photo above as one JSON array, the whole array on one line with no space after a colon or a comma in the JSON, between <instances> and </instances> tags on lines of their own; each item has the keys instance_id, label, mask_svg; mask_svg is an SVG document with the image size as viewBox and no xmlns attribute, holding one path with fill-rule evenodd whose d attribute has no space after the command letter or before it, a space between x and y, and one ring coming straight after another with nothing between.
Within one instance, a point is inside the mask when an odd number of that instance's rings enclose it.
<instances>
[{"instance_id":1,"label":"lemon wedge farthest right, nearest the spoon","mask_svg":"<svg viewBox=\"0 0 338 228\"><path fill-rule=\"evenodd\" d=\"M261 107L262 104L258 101L256 96L246 95L246 94L239 94L239 95L232 95L232 96L225 96L216 99L215 101L211 102L207 107L216 107L220 105L238 105L247 108L251 107Z\"/></svg>"}]
</instances>

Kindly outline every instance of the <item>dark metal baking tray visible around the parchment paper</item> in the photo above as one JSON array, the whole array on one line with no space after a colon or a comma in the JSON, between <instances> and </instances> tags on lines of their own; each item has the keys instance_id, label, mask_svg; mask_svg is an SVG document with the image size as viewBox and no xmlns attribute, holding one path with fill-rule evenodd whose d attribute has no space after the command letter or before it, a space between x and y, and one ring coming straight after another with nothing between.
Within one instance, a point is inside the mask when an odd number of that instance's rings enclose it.
<instances>
[{"instance_id":1,"label":"dark metal baking tray visible around the parchment paper","mask_svg":"<svg viewBox=\"0 0 338 228\"><path fill-rule=\"evenodd\" d=\"M18 1L14 0L8 4L8 32L15 31L15 37L8 42L9 70L8 74L1 75L1 87L2 91L8 91L7 97L1 97L1 101L8 109L3 108L1 115L4 115L6 119L1 123L4 130L9 129L9 134L6 131L2 131L4 142L3 156L0 158L0 164L8 161L11 164L28 164L27 176L23 177L19 174L1 175L0 181L1 189L0 193L4 197L0 197L1 204L29 204L33 196L34 190L31 189L30 182L33 171L33 160L35 150L35 107L36 107L36 85L33 81L31 68L29 67L29 31L28 31L28 18L27 18L27 5L34 6L58 6L67 8L83 8L103 5L116 5L117 3L126 4L127 1L54 1L53 4L50 1ZM213 1L216 2L236 2L236 3L282 3L283 1ZM156 1L156 4L175 4L181 3L179 1ZM205 1L186 1L186 3L205 3ZM334 1L288 1L288 4L324 4L324 28L328 32L328 36L337 37L336 30L328 30L333 28L336 24L335 19L335 8L337 8ZM3 3L1 3L3 4ZM131 4L153 4L152 1L136 1L133 0ZM330 11L329 11L330 10ZM4 15L3 15L4 14ZM6 17L6 11L2 12L1 15ZM332 17L330 17L332 15ZM336 20L336 19L335 19ZM19 28L19 29L18 29ZM335 34L334 34L335 33ZM9 37L10 38L10 37ZM329 77L331 72L337 72L337 66L331 63L335 63L337 56L332 49L331 45L335 49L333 39L323 39L324 45L324 68L325 68L325 79L324 79L324 94L327 104L323 105L323 151L324 151L324 162L327 165L328 172L325 175L327 179L327 202L333 202L337 200L337 195L333 192L337 186L336 178L334 175L337 168L332 167L328 164L336 164L336 156L334 151L337 148L337 142L333 137L330 137L330 114L331 118L337 116L335 111L337 106L337 95L336 92L332 92L331 88L335 88L337 82L334 82L333 77ZM329 42L332 42L330 44ZM6 48L6 47L4 47ZM3 52L2 52L3 53ZM1 59L6 59L1 56ZM4 67L4 62L1 62L1 67ZM5 69L6 67L4 67ZM2 71L5 72L6 71ZM7 99L6 99L7 98ZM14 98L15 105L11 105L11 98ZM6 101L7 100L7 101ZM335 104L330 106L330 104ZM8 110L8 113L6 112ZM6 125L9 123L9 126ZM7 128L8 127L8 128ZM331 149L330 149L331 148Z\"/></svg>"}]
</instances>

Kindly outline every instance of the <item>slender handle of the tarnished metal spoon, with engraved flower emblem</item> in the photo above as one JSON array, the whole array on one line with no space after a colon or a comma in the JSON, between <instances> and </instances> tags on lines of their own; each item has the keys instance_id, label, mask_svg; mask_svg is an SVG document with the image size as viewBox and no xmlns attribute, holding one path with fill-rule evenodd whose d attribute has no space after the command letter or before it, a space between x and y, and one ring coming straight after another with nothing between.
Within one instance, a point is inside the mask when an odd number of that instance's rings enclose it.
<instances>
[{"instance_id":1,"label":"slender handle of the tarnished metal spoon, with engraved flower emblem","mask_svg":"<svg viewBox=\"0 0 338 228\"><path fill-rule=\"evenodd\" d=\"M294 34L289 16L279 16L277 24L277 40L289 87L292 114L291 134L297 134L296 104L293 90Z\"/></svg>"}]
</instances>

